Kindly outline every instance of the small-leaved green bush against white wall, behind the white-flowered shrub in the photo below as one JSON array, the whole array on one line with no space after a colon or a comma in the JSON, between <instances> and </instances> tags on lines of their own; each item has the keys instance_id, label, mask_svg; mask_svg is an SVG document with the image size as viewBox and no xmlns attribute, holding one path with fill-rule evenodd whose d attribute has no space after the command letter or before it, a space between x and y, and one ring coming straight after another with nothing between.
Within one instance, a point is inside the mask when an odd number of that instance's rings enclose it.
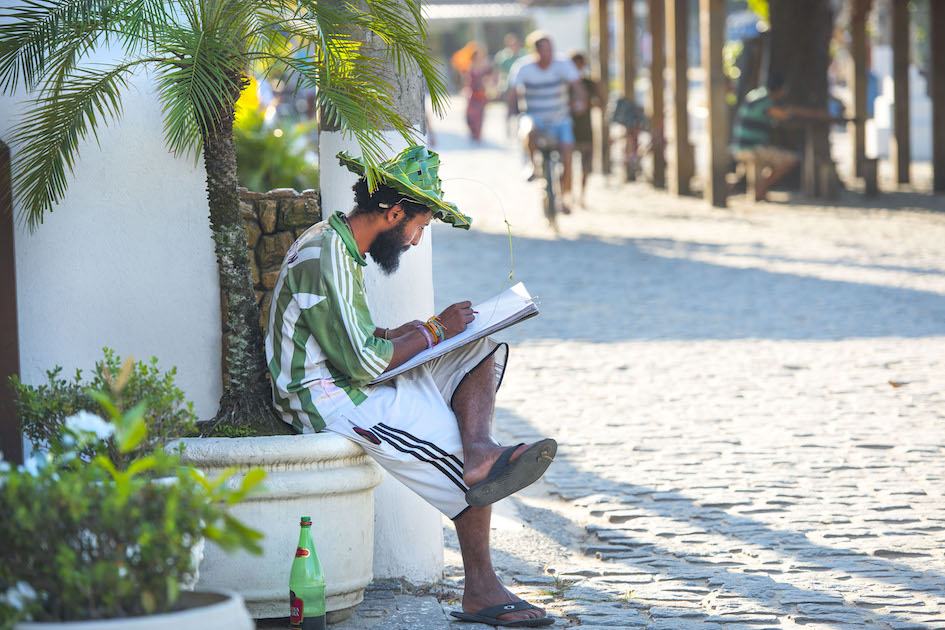
<instances>
[{"instance_id":1,"label":"small-leaved green bush against white wall, behind the white-flowered shrub","mask_svg":"<svg viewBox=\"0 0 945 630\"><path fill-rule=\"evenodd\" d=\"M96 449L105 449L116 465L124 467L130 459L143 452L164 446L174 438L196 433L197 416L193 403L184 399L184 392L174 383L177 368L161 372L155 357L151 357L148 363L139 361L122 365L121 357L113 350L103 348L103 352L105 356L95 363L88 382L83 382L82 370L76 370L71 380L63 378L60 366L46 372L47 382L36 387L23 384L16 376L10 378L23 435L34 444L46 445L53 451L62 450L66 418L80 411L100 416L109 413L106 401L94 392L109 389L109 382L113 379L117 379L120 385L118 404L127 407L143 405L145 438L135 451L127 454L117 447L114 440L89 443L85 452L87 456L98 454Z\"/></svg>"}]
</instances>

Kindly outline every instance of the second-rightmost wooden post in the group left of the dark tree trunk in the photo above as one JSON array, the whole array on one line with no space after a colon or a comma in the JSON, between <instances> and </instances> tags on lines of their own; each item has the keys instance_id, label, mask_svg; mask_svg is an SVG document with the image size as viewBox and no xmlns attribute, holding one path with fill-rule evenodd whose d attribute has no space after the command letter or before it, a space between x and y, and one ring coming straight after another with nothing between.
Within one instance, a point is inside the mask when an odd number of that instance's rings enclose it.
<instances>
[{"instance_id":1,"label":"second-rightmost wooden post in the group left of the dark tree trunk","mask_svg":"<svg viewBox=\"0 0 945 630\"><path fill-rule=\"evenodd\" d=\"M673 165L670 188L689 194L689 0L666 0L666 51L673 86Z\"/></svg>"}]
</instances>

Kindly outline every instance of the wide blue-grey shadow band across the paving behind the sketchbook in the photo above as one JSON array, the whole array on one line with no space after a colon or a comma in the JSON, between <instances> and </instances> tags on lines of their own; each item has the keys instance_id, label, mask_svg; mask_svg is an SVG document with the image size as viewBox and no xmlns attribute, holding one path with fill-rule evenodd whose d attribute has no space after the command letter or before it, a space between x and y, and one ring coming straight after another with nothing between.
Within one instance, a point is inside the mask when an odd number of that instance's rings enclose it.
<instances>
[{"instance_id":1,"label":"wide blue-grey shadow band across the paving behind the sketchbook","mask_svg":"<svg viewBox=\"0 0 945 630\"><path fill-rule=\"evenodd\" d=\"M513 244L514 281L525 283L539 298L542 311L527 326L508 329L514 341L838 340L945 334L945 295L759 269L752 265L764 264L766 258L785 264L809 262L763 248L747 255L739 251L732 257L739 267L693 259L707 252L721 256L717 245L672 239L516 237ZM510 286L509 259L507 235L436 232L437 308L463 299L476 302ZM464 272L471 264L475 271ZM829 259L815 265L832 273L863 266ZM942 275L936 269L866 267Z\"/></svg>"}]
</instances>

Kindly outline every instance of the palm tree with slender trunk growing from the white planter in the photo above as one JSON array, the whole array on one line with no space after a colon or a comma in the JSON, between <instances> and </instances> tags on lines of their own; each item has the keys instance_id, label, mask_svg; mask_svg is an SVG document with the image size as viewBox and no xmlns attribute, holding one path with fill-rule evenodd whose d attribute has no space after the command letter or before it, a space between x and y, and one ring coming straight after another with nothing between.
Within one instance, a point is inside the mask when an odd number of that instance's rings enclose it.
<instances>
[{"instance_id":1,"label":"palm tree with slender trunk growing from the white planter","mask_svg":"<svg viewBox=\"0 0 945 630\"><path fill-rule=\"evenodd\" d=\"M203 154L224 315L224 393L213 423L279 431L239 212L235 103L251 67L316 88L329 124L352 134L373 166L382 129L412 133L384 79L386 61L364 51L371 36L400 72L422 73L434 108L446 87L426 54L419 0L30 0L0 9L0 89L31 92L12 132L13 189L32 231L66 194L79 142L121 114L133 73L157 83L165 138L176 154ZM119 50L110 65L88 62ZM373 183L373 173L369 172ZM268 426L265 426L268 423Z\"/></svg>"}]
</instances>

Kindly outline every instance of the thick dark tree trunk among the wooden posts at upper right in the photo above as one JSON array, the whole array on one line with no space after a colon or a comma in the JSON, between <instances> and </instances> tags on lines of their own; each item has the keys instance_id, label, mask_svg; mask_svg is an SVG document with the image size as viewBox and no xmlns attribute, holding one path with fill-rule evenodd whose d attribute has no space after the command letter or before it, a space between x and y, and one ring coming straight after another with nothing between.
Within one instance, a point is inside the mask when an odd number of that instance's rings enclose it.
<instances>
[{"instance_id":1,"label":"thick dark tree trunk among the wooden posts at upper right","mask_svg":"<svg viewBox=\"0 0 945 630\"><path fill-rule=\"evenodd\" d=\"M771 73L779 73L790 83L787 104L826 110L828 104L827 67L830 65L830 36L834 13L830 0L769 0L771 32L769 41ZM819 164L830 164L829 126L816 127L814 154ZM772 135L781 146L803 155L802 126L783 125ZM799 169L792 173L798 181Z\"/></svg>"}]
</instances>

